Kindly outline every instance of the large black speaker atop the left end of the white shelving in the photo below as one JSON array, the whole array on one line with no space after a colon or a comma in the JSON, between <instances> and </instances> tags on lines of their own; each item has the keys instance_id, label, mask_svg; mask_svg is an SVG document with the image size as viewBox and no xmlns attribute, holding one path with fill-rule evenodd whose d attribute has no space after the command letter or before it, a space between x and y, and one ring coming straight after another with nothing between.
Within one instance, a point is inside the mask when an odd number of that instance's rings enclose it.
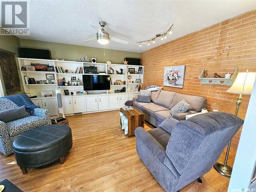
<instances>
[{"instance_id":1,"label":"large black speaker atop the left end of the white shelving","mask_svg":"<svg viewBox=\"0 0 256 192\"><path fill-rule=\"evenodd\" d=\"M19 57L33 59L52 59L51 52L46 49L19 48Z\"/></svg>"}]
</instances>

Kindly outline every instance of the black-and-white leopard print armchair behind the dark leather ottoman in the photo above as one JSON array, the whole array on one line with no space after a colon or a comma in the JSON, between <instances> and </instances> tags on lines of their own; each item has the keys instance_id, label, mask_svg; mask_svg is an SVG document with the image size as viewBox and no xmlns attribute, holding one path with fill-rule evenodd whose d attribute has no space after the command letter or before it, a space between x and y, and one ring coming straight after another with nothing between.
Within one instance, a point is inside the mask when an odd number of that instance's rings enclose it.
<instances>
[{"instance_id":1,"label":"black-and-white leopard print armchair behind the dark leather ottoman","mask_svg":"<svg viewBox=\"0 0 256 192\"><path fill-rule=\"evenodd\" d=\"M0 111L17 107L11 100L0 98ZM27 117L7 123L0 121L0 152L4 155L13 153L12 143L20 134L38 126L52 124L49 110L36 108L32 115L28 112L26 112L26 115Z\"/></svg>"}]
</instances>

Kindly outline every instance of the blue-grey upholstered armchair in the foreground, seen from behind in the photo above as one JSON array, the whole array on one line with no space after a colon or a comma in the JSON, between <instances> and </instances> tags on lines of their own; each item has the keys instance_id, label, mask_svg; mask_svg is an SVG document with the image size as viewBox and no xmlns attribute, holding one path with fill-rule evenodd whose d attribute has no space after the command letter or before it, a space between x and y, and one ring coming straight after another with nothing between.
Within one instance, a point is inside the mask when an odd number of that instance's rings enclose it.
<instances>
[{"instance_id":1,"label":"blue-grey upholstered armchair in the foreground, seen from behind","mask_svg":"<svg viewBox=\"0 0 256 192\"><path fill-rule=\"evenodd\" d=\"M178 191L209 172L243 120L223 112L196 115L165 127L135 130L139 157L166 191Z\"/></svg>"}]
</instances>

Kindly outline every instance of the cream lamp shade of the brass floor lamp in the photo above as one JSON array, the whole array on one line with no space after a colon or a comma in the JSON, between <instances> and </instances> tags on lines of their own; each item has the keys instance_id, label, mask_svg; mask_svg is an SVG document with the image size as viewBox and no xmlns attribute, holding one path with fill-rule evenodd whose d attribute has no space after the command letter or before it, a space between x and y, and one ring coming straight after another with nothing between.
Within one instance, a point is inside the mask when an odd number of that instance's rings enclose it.
<instances>
[{"instance_id":1,"label":"cream lamp shade of the brass floor lamp","mask_svg":"<svg viewBox=\"0 0 256 192\"><path fill-rule=\"evenodd\" d=\"M234 94L250 95L255 77L256 73L254 72L238 73L236 80L234 80L232 86L227 90L227 92Z\"/></svg>"}]
</instances>

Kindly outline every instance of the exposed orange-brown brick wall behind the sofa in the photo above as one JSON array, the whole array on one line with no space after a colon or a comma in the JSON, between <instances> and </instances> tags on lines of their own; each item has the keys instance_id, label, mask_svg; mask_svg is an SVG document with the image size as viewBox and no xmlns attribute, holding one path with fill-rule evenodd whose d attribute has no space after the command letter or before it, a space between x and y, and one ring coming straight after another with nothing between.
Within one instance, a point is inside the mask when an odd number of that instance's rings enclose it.
<instances>
[{"instance_id":1,"label":"exposed orange-brown brick wall behind the sofa","mask_svg":"<svg viewBox=\"0 0 256 192\"><path fill-rule=\"evenodd\" d=\"M209 75L233 73L249 69L256 72L256 10L200 31L167 42L145 51L141 55L144 68L144 86L163 86L164 67L185 65L183 89L164 87L185 94L201 95L207 98L207 109L234 113L238 95L226 93L229 86L218 84L202 85L198 76L203 69ZM245 118L249 96L243 96L239 117ZM241 129L234 136L231 147L237 149Z\"/></svg>"}]
</instances>

